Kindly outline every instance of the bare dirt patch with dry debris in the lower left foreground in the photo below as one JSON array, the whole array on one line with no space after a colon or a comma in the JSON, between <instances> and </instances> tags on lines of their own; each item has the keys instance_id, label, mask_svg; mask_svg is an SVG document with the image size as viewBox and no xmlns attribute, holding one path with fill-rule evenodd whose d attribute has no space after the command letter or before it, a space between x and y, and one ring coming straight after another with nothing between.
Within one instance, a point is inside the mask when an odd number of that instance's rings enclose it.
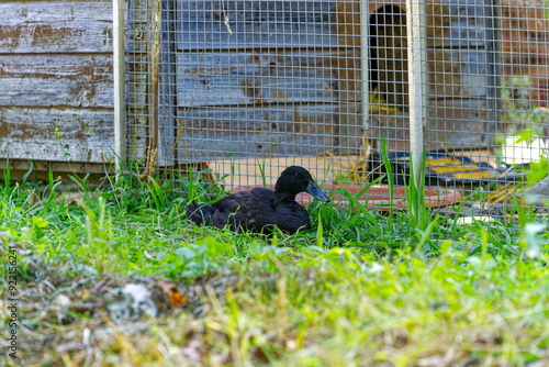
<instances>
[{"instance_id":1,"label":"bare dirt patch with dry debris in the lower left foreground","mask_svg":"<svg viewBox=\"0 0 549 367\"><path fill-rule=\"evenodd\" d=\"M14 330L20 342L18 359L11 358L13 365L61 365L68 355L86 365L104 362L105 346L112 348L121 335L150 335L155 324L168 323L183 312L199 318L209 311L206 294L224 302L225 293L238 279L229 270L191 283L98 274L94 268L72 262L52 264L52 259L21 243L9 242L7 246L5 237L5 233L0 236L0 256L14 248L19 260L13 303L18 308ZM7 280L2 277L0 282L4 294L9 289ZM8 313L8 307L2 304L2 330L11 330ZM2 337L0 345L7 349L9 341Z\"/></svg>"}]
</instances>

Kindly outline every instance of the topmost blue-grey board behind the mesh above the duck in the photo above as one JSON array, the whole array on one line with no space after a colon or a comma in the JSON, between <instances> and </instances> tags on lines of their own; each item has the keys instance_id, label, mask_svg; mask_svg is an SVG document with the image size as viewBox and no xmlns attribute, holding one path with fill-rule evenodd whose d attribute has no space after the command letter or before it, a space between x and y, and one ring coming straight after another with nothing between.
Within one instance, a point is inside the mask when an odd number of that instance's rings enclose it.
<instances>
[{"instance_id":1,"label":"topmost blue-grey board behind the mesh above the duck","mask_svg":"<svg viewBox=\"0 0 549 367\"><path fill-rule=\"evenodd\" d=\"M338 46L336 7L337 0L180 0L178 48ZM225 25L225 14L232 35Z\"/></svg>"}]
</instances>

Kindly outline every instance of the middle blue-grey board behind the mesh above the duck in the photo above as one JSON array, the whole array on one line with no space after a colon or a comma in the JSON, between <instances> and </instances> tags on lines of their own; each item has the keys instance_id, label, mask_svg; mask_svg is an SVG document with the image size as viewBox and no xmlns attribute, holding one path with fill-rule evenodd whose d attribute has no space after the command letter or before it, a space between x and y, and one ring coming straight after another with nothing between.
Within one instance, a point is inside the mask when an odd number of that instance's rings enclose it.
<instances>
[{"instance_id":1,"label":"middle blue-grey board behind the mesh above the duck","mask_svg":"<svg viewBox=\"0 0 549 367\"><path fill-rule=\"evenodd\" d=\"M340 71L346 70L345 77L358 71L357 62L355 53L346 51L180 53L178 105L333 103L359 98L356 90L341 96L338 85Z\"/></svg>"}]
</instances>

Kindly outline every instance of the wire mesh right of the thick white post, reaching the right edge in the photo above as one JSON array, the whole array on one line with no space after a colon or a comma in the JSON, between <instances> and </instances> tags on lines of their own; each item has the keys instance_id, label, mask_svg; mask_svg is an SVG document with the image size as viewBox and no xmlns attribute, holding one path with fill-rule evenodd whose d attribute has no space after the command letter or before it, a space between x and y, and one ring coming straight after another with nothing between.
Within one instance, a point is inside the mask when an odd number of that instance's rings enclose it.
<instances>
[{"instance_id":1,"label":"wire mesh right of the thick white post, reaching the right edge","mask_svg":"<svg viewBox=\"0 0 549 367\"><path fill-rule=\"evenodd\" d=\"M547 193L546 184L529 185L547 176L541 84L533 73L546 64L545 4L441 5L427 3L425 14L426 182L458 189L463 213L514 223L534 191ZM545 205L538 201L535 209L544 212Z\"/></svg>"}]
</instances>

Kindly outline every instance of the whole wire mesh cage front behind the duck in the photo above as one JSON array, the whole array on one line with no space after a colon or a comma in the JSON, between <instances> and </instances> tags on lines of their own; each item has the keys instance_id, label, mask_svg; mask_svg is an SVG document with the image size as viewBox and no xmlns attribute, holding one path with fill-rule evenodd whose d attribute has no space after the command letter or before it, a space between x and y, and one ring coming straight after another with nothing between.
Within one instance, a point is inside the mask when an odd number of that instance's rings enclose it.
<instances>
[{"instance_id":1,"label":"whole wire mesh cage front behind the duck","mask_svg":"<svg viewBox=\"0 0 549 367\"><path fill-rule=\"evenodd\" d=\"M326 189L376 181L372 200L410 182L419 138L440 212L545 212L545 2L417 5L412 19L399 0L130 0L130 158L226 190L300 165Z\"/></svg>"}]
</instances>

